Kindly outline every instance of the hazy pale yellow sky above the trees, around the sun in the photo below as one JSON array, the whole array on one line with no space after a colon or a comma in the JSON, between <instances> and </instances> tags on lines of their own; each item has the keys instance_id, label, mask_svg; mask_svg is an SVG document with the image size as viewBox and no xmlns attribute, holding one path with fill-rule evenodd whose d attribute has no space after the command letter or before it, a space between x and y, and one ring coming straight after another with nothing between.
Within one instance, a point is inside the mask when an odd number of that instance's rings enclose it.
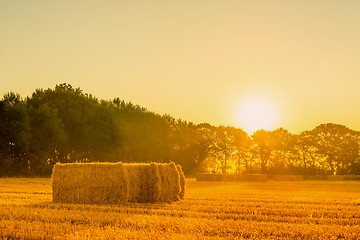
<instances>
[{"instance_id":1,"label":"hazy pale yellow sky above the trees, around the sun","mask_svg":"<svg viewBox=\"0 0 360 240\"><path fill-rule=\"evenodd\" d=\"M67 82L195 123L247 99L293 133L360 130L358 0L0 0L0 94Z\"/></svg>"}]
</instances>

